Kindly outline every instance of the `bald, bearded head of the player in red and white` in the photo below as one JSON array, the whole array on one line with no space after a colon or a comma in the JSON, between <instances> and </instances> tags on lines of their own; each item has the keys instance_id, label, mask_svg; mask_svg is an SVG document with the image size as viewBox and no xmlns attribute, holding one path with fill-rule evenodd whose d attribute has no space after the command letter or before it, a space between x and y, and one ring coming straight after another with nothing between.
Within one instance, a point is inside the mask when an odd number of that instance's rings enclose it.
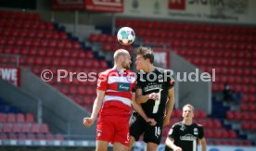
<instances>
[{"instance_id":1,"label":"bald, bearded head of the player in red and white","mask_svg":"<svg viewBox=\"0 0 256 151\"><path fill-rule=\"evenodd\" d=\"M129 52L125 49L118 49L114 53L115 65L122 66L123 69L130 69L132 63Z\"/></svg>"}]
</instances>

